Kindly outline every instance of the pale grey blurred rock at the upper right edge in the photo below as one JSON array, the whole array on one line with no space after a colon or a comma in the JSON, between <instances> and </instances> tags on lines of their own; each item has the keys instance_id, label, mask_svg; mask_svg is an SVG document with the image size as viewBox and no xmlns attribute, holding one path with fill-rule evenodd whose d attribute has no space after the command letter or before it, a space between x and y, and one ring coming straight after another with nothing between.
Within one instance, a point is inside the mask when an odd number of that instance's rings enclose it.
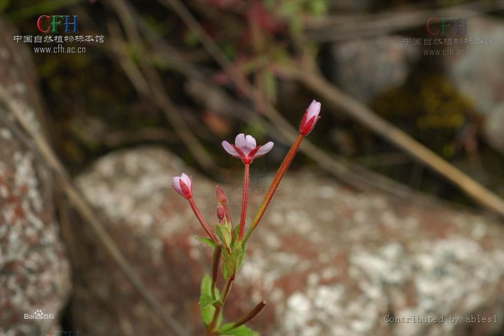
<instances>
[{"instance_id":1,"label":"pale grey blurred rock at the upper right edge","mask_svg":"<svg viewBox=\"0 0 504 336\"><path fill-rule=\"evenodd\" d=\"M474 43L462 48L474 54L444 57L447 72L460 92L486 117L483 132L488 143L504 153L504 25L471 18L463 37Z\"/></svg>"}]
</instances>

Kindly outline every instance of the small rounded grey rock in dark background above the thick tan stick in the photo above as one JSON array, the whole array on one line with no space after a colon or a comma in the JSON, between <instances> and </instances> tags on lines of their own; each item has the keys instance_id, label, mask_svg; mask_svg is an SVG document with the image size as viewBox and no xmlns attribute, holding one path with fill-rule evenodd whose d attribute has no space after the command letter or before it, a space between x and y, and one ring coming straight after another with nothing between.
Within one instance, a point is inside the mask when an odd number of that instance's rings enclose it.
<instances>
[{"instance_id":1,"label":"small rounded grey rock in dark background above the thick tan stick","mask_svg":"<svg viewBox=\"0 0 504 336\"><path fill-rule=\"evenodd\" d=\"M379 36L335 43L332 53L336 84L355 99L369 103L374 96L404 83L420 49L406 45L402 36Z\"/></svg>"}]
</instances>

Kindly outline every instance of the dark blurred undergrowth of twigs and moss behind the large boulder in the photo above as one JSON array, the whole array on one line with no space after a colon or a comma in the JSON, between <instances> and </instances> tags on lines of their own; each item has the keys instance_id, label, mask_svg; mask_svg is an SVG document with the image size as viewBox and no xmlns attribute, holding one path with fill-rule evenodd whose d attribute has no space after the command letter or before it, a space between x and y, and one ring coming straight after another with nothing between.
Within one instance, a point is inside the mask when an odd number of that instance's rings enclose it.
<instances>
[{"instance_id":1,"label":"dark blurred undergrowth of twigs and moss behind the large boulder","mask_svg":"<svg viewBox=\"0 0 504 336\"><path fill-rule=\"evenodd\" d=\"M485 133L489 116L504 114L502 105L494 103L502 102L504 79L490 83L490 98L471 96L459 85L464 79L461 66L479 69L476 64L488 63L490 70L477 70L481 75L498 73L504 64L498 39L504 36L498 35L504 18L501 2L194 0L184 3L197 19L192 27L165 1L1 4L2 15L20 35L40 35L40 15L77 15L80 34L104 36L104 43L86 44L85 53L33 53L48 132L74 175L110 151L157 144L222 179L223 170L238 163L220 143L238 132L253 134L258 143L276 142L275 151L265 158L273 171L288 141L276 131L283 127L281 119L268 115L264 104L272 104L297 126L314 98L322 102L323 119L309 139L331 157L414 189L473 204L446 178L328 104L328 97L289 72L294 66L320 74L504 196L504 149L492 145L499 143L492 139L498 135ZM478 16L468 16L468 32L474 38L493 38L494 45L480 46L473 56L451 57L425 55L422 51L430 47L404 42L432 37L426 21L447 13L443 11ZM476 20L481 22L479 33ZM240 79L222 68L198 28L207 32L206 38L216 43ZM497 63L486 58L490 54L497 55ZM484 76L468 76L476 87L469 87L470 92L488 91ZM256 95L239 85L243 80ZM490 102L481 104L479 99ZM496 120L504 126L504 118ZM314 164L317 160L301 154L294 168Z\"/></svg>"}]
</instances>

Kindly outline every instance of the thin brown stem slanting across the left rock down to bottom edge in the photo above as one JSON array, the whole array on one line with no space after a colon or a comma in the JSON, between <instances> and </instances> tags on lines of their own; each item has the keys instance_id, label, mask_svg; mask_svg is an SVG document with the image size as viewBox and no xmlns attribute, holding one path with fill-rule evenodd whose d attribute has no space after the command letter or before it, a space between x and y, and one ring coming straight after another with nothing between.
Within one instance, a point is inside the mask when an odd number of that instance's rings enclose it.
<instances>
[{"instance_id":1,"label":"thin brown stem slanting across the left rock down to bottom edge","mask_svg":"<svg viewBox=\"0 0 504 336\"><path fill-rule=\"evenodd\" d=\"M94 234L98 237L98 241L102 244L105 250L109 253L112 260L119 266L122 272L126 275L128 280L133 284L135 289L140 293L144 300L149 304L151 309L162 319L162 321L172 330L177 336L187 335L182 326L165 311L161 303L155 298L155 296L149 291L145 286L140 276L135 271L135 268L131 263L124 257L117 244L113 241L110 235L104 228L103 223L98 220L95 215L95 211L87 203L85 197L79 192L79 190L72 183L65 167L61 164L56 154L52 151L47 141L42 137L42 135L34 130L30 126L30 122L24 116L21 108L14 101L9 99L9 96L4 88L0 87L0 99L4 102L6 106L13 112L18 122L25 129L25 131L30 135L35 148L39 152L40 156L45 160L46 164L54 172L56 180L61 184L61 188L67 194L72 205L77 209L79 214L86 220L93 230Z\"/></svg>"}]
</instances>

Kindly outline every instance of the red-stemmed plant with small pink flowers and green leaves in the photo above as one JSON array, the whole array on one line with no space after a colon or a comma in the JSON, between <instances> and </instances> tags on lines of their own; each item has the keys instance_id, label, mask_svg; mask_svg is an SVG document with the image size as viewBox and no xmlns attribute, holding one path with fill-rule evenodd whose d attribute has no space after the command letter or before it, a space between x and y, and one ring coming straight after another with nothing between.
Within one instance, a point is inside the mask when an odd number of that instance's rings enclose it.
<instances>
[{"instance_id":1,"label":"red-stemmed plant with small pink flowers and green leaves","mask_svg":"<svg viewBox=\"0 0 504 336\"><path fill-rule=\"evenodd\" d=\"M312 130L317 121L319 120L321 104L315 100L306 109L303 115L301 124L299 126L299 136L285 156L282 164L280 165L275 178L273 179L270 188L266 192L263 203L259 208L254 221L250 224L249 229L245 232L245 220L248 206L248 185L249 185L249 167L254 159L263 156L273 149L273 142L268 142L264 145L258 146L256 139L250 135L240 133L234 139L234 145L227 141L222 142L224 150L233 157L241 159L244 164L243 173L243 192L242 192L242 207L240 222L237 227L233 226L231 214L227 206L227 197L224 190L216 186L217 208L216 217L217 225L215 233L210 229L207 221L201 214L193 199L193 180L190 176L182 173L180 176L173 177L173 188L180 195L182 195L190 204L196 218L199 220L203 229L206 231L209 238L197 238L198 240L206 243L214 249L214 257L212 261L212 277L205 276L202 283L202 294L200 297L200 308L202 316L207 327L207 335L226 334L233 332L233 334L251 335L253 331L248 329L244 324L253 319L266 305L266 301L261 301L250 312L240 318L234 323L227 323L220 326L222 319L222 306L224 305L231 283L234 281L236 273L239 271L241 264L246 254L246 242L252 232L257 228L261 221L270 201L275 194L282 177L284 176L287 168L289 167L292 159L294 158L301 141ZM219 294L216 288L217 274L219 269L219 262L222 258L222 275L226 279L226 285L222 292ZM236 333L238 332L238 333Z\"/></svg>"}]
</instances>

